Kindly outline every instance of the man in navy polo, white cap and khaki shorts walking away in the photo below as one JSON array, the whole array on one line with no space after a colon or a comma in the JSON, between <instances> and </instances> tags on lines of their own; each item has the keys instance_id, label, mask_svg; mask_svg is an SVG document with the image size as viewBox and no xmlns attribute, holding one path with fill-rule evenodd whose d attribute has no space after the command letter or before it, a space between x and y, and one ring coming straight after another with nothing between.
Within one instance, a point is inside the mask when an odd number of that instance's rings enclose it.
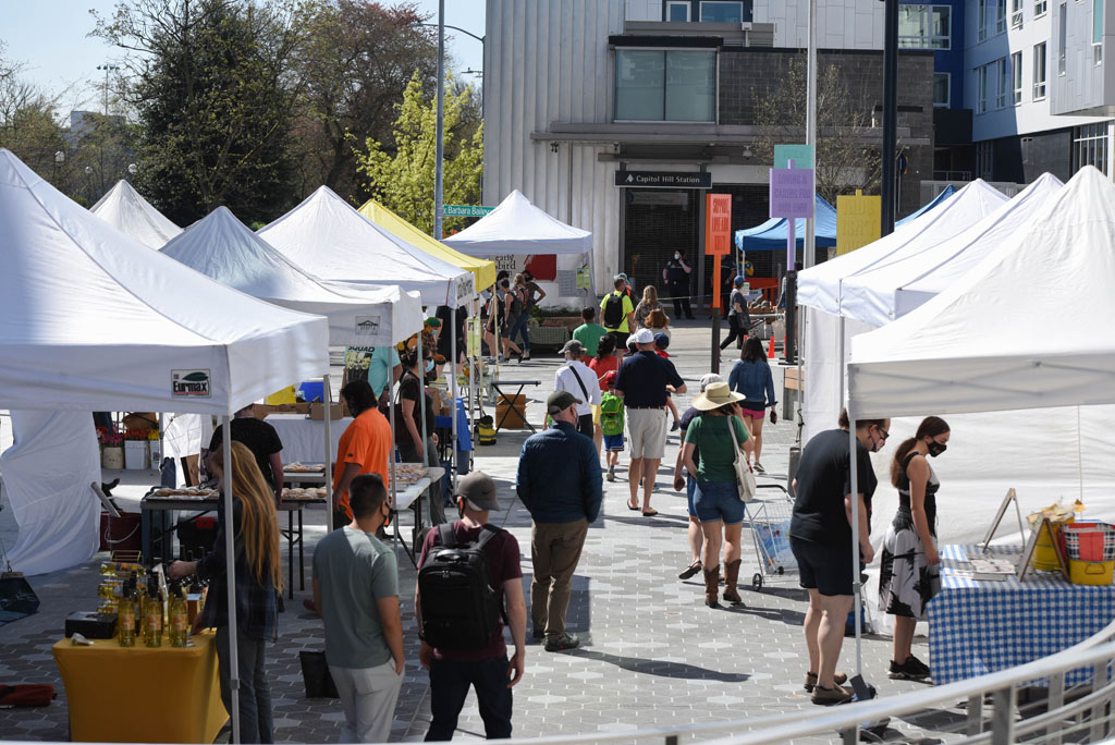
<instances>
[{"instance_id":1,"label":"man in navy polo, white cap and khaki shorts walking away","mask_svg":"<svg viewBox=\"0 0 1115 745\"><path fill-rule=\"evenodd\" d=\"M639 329L634 335L638 351L623 360L615 378L615 395L623 398L627 409L628 434L631 437L631 467L628 486L631 497L628 510L639 510L639 480L642 478L642 514L658 514L650 506L655 491L655 474L666 455L666 394L683 394L686 384L673 362L655 351L655 335L650 329Z\"/></svg>"}]
</instances>

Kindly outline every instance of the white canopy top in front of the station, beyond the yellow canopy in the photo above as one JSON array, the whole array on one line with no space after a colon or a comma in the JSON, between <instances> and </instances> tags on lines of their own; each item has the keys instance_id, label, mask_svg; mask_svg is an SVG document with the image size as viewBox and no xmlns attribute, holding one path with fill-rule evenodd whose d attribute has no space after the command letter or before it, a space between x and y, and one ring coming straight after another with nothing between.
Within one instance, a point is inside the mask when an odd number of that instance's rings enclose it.
<instances>
[{"instance_id":1,"label":"white canopy top in front of the station, beyond the yellow canopy","mask_svg":"<svg viewBox=\"0 0 1115 745\"><path fill-rule=\"evenodd\" d=\"M550 216L516 188L495 210L443 243L471 257L581 254L592 250L592 233Z\"/></svg>"}]
</instances>

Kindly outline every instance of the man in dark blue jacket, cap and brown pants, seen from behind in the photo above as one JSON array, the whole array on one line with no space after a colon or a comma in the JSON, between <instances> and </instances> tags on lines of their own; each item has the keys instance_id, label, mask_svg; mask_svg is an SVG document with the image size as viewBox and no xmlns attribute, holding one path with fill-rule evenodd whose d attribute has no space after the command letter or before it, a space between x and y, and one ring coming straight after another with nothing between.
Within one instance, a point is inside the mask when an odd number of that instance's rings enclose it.
<instances>
[{"instance_id":1,"label":"man in dark blue jacket, cap and brown pants, seen from behind","mask_svg":"<svg viewBox=\"0 0 1115 745\"><path fill-rule=\"evenodd\" d=\"M534 638L545 636L546 651L581 644L565 631L565 609L589 523L600 514L603 501L597 447L576 430L580 403L566 390L551 394L546 410L554 425L529 437L518 456L516 491L534 522L531 619Z\"/></svg>"}]
</instances>

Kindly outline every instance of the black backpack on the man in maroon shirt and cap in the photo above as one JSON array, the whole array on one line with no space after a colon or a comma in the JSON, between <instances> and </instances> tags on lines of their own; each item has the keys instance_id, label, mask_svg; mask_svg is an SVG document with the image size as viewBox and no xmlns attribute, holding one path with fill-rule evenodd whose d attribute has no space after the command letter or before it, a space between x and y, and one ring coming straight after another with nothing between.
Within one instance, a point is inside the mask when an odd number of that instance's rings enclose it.
<instances>
[{"instance_id":1,"label":"black backpack on the man in maroon shirt and cap","mask_svg":"<svg viewBox=\"0 0 1115 745\"><path fill-rule=\"evenodd\" d=\"M506 622L484 553L484 545L503 532L485 525L475 543L458 548L453 523L437 526L442 544L430 549L418 570L421 632L430 647L484 649L500 619Z\"/></svg>"}]
</instances>

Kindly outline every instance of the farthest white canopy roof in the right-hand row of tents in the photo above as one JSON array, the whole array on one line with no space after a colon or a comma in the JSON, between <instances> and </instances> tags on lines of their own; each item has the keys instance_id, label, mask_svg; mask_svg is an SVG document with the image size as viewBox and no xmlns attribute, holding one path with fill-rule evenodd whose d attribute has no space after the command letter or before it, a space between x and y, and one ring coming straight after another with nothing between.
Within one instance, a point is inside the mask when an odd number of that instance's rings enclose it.
<instances>
[{"instance_id":1,"label":"farthest white canopy roof in the right-hand row of tents","mask_svg":"<svg viewBox=\"0 0 1115 745\"><path fill-rule=\"evenodd\" d=\"M797 302L841 315L841 284L880 262L932 248L997 210L1007 197L981 178L890 235L798 273Z\"/></svg>"}]
</instances>

